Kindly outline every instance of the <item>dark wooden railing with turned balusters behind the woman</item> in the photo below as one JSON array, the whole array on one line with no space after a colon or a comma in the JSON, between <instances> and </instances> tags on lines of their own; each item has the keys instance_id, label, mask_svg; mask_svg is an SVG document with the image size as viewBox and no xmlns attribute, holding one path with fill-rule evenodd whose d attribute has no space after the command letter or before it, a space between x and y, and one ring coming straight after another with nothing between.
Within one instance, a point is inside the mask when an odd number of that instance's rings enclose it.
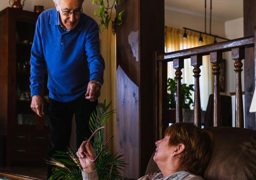
<instances>
[{"instance_id":1,"label":"dark wooden railing with turned balusters behind the woman","mask_svg":"<svg viewBox=\"0 0 256 180\"><path fill-rule=\"evenodd\" d=\"M181 69L184 67L184 59L191 58L191 66L194 66L193 76L195 77L194 123L198 127L201 127L201 103L199 88L200 66L202 65L202 57L210 55L210 62L213 64L212 70L214 75L213 125L214 127L221 125L219 62L222 60L222 53L226 51L232 51L232 59L234 60L234 70L236 74L235 127L244 127L241 81L243 63L241 61L245 58L245 48L254 46L254 37L240 38L170 53L156 52L156 126L159 131L157 133L160 136L162 136L163 130L165 130L168 126L166 123L167 62L170 61L173 61L173 68L176 69L175 77L177 78L175 121L182 122L183 120L181 106Z\"/></svg>"}]
</instances>

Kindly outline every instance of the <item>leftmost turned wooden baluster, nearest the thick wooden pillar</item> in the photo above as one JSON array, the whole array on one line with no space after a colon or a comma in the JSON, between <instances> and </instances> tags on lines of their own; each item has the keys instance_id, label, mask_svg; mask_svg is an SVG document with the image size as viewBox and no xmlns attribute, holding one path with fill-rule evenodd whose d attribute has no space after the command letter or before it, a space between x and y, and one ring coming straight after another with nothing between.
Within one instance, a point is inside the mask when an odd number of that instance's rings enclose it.
<instances>
[{"instance_id":1,"label":"leftmost turned wooden baluster, nearest the thick wooden pillar","mask_svg":"<svg viewBox=\"0 0 256 180\"><path fill-rule=\"evenodd\" d=\"M183 59L174 59L173 60L173 68L176 69L175 75L177 79L177 91L176 91L176 113L175 119L176 122L182 122L182 104L181 104L181 69L184 67L184 60Z\"/></svg>"}]
</instances>

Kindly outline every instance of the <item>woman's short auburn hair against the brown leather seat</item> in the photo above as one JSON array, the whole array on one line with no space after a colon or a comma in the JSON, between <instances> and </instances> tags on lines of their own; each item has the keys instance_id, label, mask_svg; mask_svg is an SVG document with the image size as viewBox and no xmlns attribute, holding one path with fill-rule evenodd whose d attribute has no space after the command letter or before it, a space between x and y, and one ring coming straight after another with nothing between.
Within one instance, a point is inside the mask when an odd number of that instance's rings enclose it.
<instances>
[{"instance_id":1,"label":"woman's short auburn hair against the brown leather seat","mask_svg":"<svg viewBox=\"0 0 256 180\"><path fill-rule=\"evenodd\" d=\"M182 152L180 170L202 175L212 153L212 139L207 133L193 123L173 123L165 131L169 136L169 146L185 145Z\"/></svg>"}]
</instances>

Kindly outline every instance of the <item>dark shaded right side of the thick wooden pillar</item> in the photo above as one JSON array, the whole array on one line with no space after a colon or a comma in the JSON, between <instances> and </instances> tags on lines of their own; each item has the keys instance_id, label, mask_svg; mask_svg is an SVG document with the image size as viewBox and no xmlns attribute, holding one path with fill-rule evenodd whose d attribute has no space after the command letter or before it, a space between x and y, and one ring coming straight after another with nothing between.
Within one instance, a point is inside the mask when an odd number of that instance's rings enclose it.
<instances>
[{"instance_id":1,"label":"dark shaded right side of the thick wooden pillar","mask_svg":"<svg viewBox=\"0 0 256 180\"><path fill-rule=\"evenodd\" d=\"M144 175L148 161L155 150L155 51L164 52L164 1L140 1L139 9L139 96L140 96L140 175ZM158 134L157 134L158 135Z\"/></svg>"}]
</instances>

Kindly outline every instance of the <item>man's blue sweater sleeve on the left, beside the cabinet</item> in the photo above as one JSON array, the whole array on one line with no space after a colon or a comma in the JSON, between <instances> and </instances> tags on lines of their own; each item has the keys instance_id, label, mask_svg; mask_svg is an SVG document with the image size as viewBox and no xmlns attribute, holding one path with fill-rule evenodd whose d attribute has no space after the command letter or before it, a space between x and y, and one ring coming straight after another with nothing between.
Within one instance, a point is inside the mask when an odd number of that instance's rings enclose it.
<instances>
[{"instance_id":1,"label":"man's blue sweater sleeve on the left, beside the cabinet","mask_svg":"<svg viewBox=\"0 0 256 180\"><path fill-rule=\"evenodd\" d=\"M30 57L30 91L31 96L42 95L42 86L44 81L44 71L45 71L45 61L43 56L43 48L41 41L41 32L40 32L40 18L39 16L36 31L34 36L34 42L31 48L31 57Z\"/></svg>"}]
</instances>

